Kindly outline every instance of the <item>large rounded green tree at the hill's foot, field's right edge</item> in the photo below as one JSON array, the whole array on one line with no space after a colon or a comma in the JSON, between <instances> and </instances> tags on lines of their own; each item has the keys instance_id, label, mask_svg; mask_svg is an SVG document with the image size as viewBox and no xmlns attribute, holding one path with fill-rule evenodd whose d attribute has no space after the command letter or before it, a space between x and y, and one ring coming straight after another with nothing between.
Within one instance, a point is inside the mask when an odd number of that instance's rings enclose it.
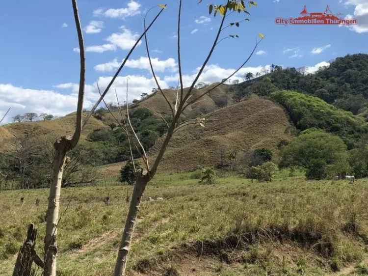
<instances>
[{"instance_id":1,"label":"large rounded green tree at the hill's foot, field's right edge","mask_svg":"<svg viewBox=\"0 0 368 276\"><path fill-rule=\"evenodd\" d=\"M281 152L283 166L306 169L308 179L323 179L349 171L346 145L341 138L322 132L306 131Z\"/></svg>"}]
</instances>

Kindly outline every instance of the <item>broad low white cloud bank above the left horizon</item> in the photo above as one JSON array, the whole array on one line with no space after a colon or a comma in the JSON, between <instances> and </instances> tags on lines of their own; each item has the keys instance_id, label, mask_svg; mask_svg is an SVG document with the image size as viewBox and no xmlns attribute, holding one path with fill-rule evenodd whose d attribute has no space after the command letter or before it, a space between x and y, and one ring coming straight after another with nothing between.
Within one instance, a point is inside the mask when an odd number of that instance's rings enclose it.
<instances>
[{"instance_id":1,"label":"broad low white cloud bank above the left horizon","mask_svg":"<svg viewBox=\"0 0 368 276\"><path fill-rule=\"evenodd\" d=\"M129 77L129 101L140 98L144 92L150 93L152 87L156 87L153 78L148 79L140 75L128 75L118 77L111 86L111 91L116 89L119 99L124 102L126 99L126 77ZM112 77L100 77L98 79L100 88L103 90L111 81ZM166 82L158 78L162 88L168 88ZM0 114L5 114L11 107L10 113L3 123L12 121L16 114L25 112L50 113L56 116L63 116L77 109L78 83L60 83L54 86L55 89L63 89L64 93L54 90L37 90L17 87L10 83L0 83ZM91 109L99 99L100 95L95 83L85 85L85 99L83 107ZM116 102L114 93L107 93L106 102Z\"/></svg>"}]
</instances>

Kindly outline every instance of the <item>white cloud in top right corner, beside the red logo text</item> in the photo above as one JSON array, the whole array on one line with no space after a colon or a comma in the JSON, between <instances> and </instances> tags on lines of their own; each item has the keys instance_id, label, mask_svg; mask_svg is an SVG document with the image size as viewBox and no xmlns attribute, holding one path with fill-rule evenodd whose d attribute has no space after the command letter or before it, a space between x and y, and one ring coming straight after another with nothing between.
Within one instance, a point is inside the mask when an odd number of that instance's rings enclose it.
<instances>
[{"instance_id":1,"label":"white cloud in top right corner, beside the red logo text","mask_svg":"<svg viewBox=\"0 0 368 276\"><path fill-rule=\"evenodd\" d=\"M354 5L354 16L348 14L345 19L357 19L357 25L346 26L357 33L368 32L368 1L367 0L347 0L345 6Z\"/></svg>"}]
</instances>

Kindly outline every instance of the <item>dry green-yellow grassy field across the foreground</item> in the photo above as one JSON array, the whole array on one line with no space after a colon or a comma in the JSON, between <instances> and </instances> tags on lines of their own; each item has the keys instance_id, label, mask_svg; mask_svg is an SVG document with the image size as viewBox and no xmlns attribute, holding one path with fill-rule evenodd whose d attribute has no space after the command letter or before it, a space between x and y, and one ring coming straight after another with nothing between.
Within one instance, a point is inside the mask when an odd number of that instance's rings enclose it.
<instances>
[{"instance_id":1,"label":"dry green-yellow grassy field across the foreground","mask_svg":"<svg viewBox=\"0 0 368 276\"><path fill-rule=\"evenodd\" d=\"M367 179L305 181L282 171L271 183L223 175L206 185L199 176L159 174L149 185L128 275L368 275ZM58 275L111 275L131 189L111 178L62 191ZM47 190L0 192L1 276L11 275L30 222L42 252L47 197Z\"/></svg>"}]
</instances>

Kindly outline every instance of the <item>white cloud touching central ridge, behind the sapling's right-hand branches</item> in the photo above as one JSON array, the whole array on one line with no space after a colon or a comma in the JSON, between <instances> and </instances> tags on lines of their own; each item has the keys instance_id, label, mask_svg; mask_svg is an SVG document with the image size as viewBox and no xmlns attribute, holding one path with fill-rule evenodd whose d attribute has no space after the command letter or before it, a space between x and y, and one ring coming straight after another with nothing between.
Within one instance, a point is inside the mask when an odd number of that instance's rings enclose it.
<instances>
[{"instance_id":1,"label":"white cloud touching central ridge, behind the sapling's right-hand branches","mask_svg":"<svg viewBox=\"0 0 368 276\"><path fill-rule=\"evenodd\" d=\"M264 70L270 70L270 65L265 66L257 66L257 67L243 67L241 68L237 74L235 74L230 81L238 80L240 82L243 81L242 76L246 73L252 73L254 76L257 73L263 74ZM200 68L197 68L195 71L193 71L192 74L184 74L183 75L183 83L184 86L189 86L194 78L196 77L198 71ZM235 68L221 68L217 64L211 64L205 67L201 77L199 78L198 82L205 82L205 83L215 83L215 82L221 82L222 79L229 77L231 74L234 73L236 69ZM164 81L167 83L178 83L179 75L171 75L171 76L165 76Z\"/></svg>"}]
</instances>

